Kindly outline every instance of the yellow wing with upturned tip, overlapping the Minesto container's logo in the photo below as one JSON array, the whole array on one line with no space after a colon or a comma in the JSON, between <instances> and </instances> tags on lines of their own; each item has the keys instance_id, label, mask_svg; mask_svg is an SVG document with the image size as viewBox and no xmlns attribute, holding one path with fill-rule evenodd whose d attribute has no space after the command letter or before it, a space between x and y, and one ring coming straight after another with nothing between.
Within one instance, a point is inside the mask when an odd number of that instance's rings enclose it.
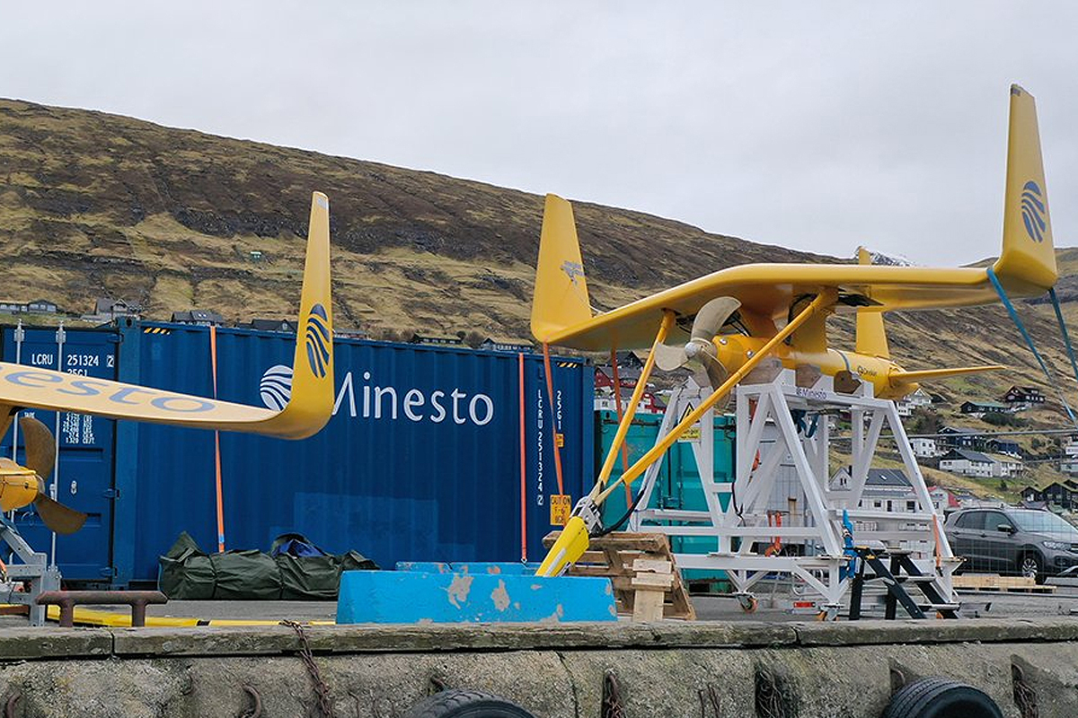
<instances>
[{"instance_id":1,"label":"yellow wing with upturned tip, overlapping the Minesto container's logo","mask_svg":"<svg viewBox=\"0 0 1078 718\"><path fill-rule=\"evenodd\" d=\"M310 202L292 395L280 411L6 362L0 362L0 406L75 411L287 439L316 434L333 412L329 199L316 192Z\"/></svg>"}]
</instances>

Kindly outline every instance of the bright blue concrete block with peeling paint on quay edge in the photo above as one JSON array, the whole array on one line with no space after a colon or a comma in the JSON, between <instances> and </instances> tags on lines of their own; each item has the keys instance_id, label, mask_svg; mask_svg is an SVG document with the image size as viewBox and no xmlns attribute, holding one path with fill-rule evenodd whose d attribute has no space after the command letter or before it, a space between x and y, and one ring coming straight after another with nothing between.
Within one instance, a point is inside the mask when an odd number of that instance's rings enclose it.
<instances>
[{"instance_id":1,"label":"bright blue concrete block with peeling paint on quay edge","mask_svg":"<svg viewBox=\"0 0 1078 718\"><path fill-rule=\"evenodd\" d=\"M607 578L346 571L337 623L614 621Z\"/></svg>"}]
</instances>

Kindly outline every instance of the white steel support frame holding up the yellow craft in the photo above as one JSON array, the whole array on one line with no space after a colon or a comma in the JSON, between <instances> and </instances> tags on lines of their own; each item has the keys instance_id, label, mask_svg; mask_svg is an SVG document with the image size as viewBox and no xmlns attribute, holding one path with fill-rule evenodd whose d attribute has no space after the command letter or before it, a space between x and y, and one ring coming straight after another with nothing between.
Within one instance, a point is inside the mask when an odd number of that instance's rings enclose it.
<instances>
[{"instance_id":1,"label":"white steel support frame holding up the yellow craft","mask_svg":"<svg viewBox=\"0 0 1078 718\"><path fill-rule=\"evenodd\" d=\"M705 393L693 383L676 390L658 440ZM810 418L817 416L815 430L799 430L792 410L804 411ZM852 477L849 484L841 489L829 485L828 418L837 410L848 411L853 423ZM768 426L771 430L765 437ZM914 511L890 512L858 506L884 428L889 430L902 457L916 497ZM773 381L738 385L736 430L734 479L717 482L713 412L708 411L701 420L701 438L694 441L693 452L706 511L647 508L661 464L655 462L645 474L641 508L635 512L631 527L671 536L715 536L717 551L677 553L678 566L724 571L740 594L749 593L757 581L770 574L797 577L819 596L818 605L833 614L851 578L842 571L849 561L844 553L845 512L855 526L853 540L857 546L912 548L911 558L922 573L936 576L940 593L955 599L951 574L960 560L951 552L941 517L932 505L895 403L875 398L871 383L861 383L853 394L841 394L833 391L830 377L820 377L815 385L804 388L796 384L792 370L782 370ZM782 525L775 525L772 523L775 511L769 510L769 502L783 464L793 466L805 505L799 507L798 517L788 517ZM720 499L722 494L729 494L725 509ZM769 546L779 541L786 549L782 554L764 553Z\"/></svg>"}]
</instances>

